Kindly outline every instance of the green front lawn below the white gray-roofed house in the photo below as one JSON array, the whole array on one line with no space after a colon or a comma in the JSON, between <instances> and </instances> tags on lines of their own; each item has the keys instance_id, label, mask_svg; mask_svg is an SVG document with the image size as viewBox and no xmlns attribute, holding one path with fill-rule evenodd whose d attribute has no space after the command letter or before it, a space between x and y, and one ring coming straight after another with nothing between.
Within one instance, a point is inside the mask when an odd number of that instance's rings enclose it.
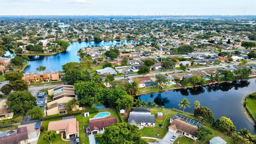
<instances>
[{"instance_id":1,"label":"green front lawn below the white gray-roofed house","mask_svg":"<svg viewBox=\"0 0 256 144\"><path fill-rule=\"evenodd\" d=\"M148 137L153 137L153 138L164 138L164 136L168 132L167 129L161 128L159 126L155 126L154 128L144 127L139 131L141 132L142 136L148 136ZM159 137L156 136L157 134L159 134Z\"/></svg>"}]
</instances>

